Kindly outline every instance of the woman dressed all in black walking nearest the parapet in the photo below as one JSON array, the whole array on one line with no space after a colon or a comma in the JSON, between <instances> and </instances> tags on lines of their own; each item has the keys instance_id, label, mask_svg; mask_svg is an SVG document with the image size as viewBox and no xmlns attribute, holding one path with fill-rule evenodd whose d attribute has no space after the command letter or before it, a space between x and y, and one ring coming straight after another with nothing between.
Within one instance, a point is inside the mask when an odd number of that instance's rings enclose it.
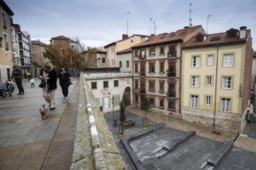
<instances>
[{"instance_id":1,"label":"woman dressed all in black walking nearest the parapet","mask_svg":"<svg viewBox=\"0 0 256 170\"><path fill-rule=\"evenodd\" d=\"M69 85L70 85L70 74L65 66L61 66L61 70L58 72L59 85L61 85L61 90L64 98L67 100L67 95L69 94Z\"/></svg>"}]
</instances>

